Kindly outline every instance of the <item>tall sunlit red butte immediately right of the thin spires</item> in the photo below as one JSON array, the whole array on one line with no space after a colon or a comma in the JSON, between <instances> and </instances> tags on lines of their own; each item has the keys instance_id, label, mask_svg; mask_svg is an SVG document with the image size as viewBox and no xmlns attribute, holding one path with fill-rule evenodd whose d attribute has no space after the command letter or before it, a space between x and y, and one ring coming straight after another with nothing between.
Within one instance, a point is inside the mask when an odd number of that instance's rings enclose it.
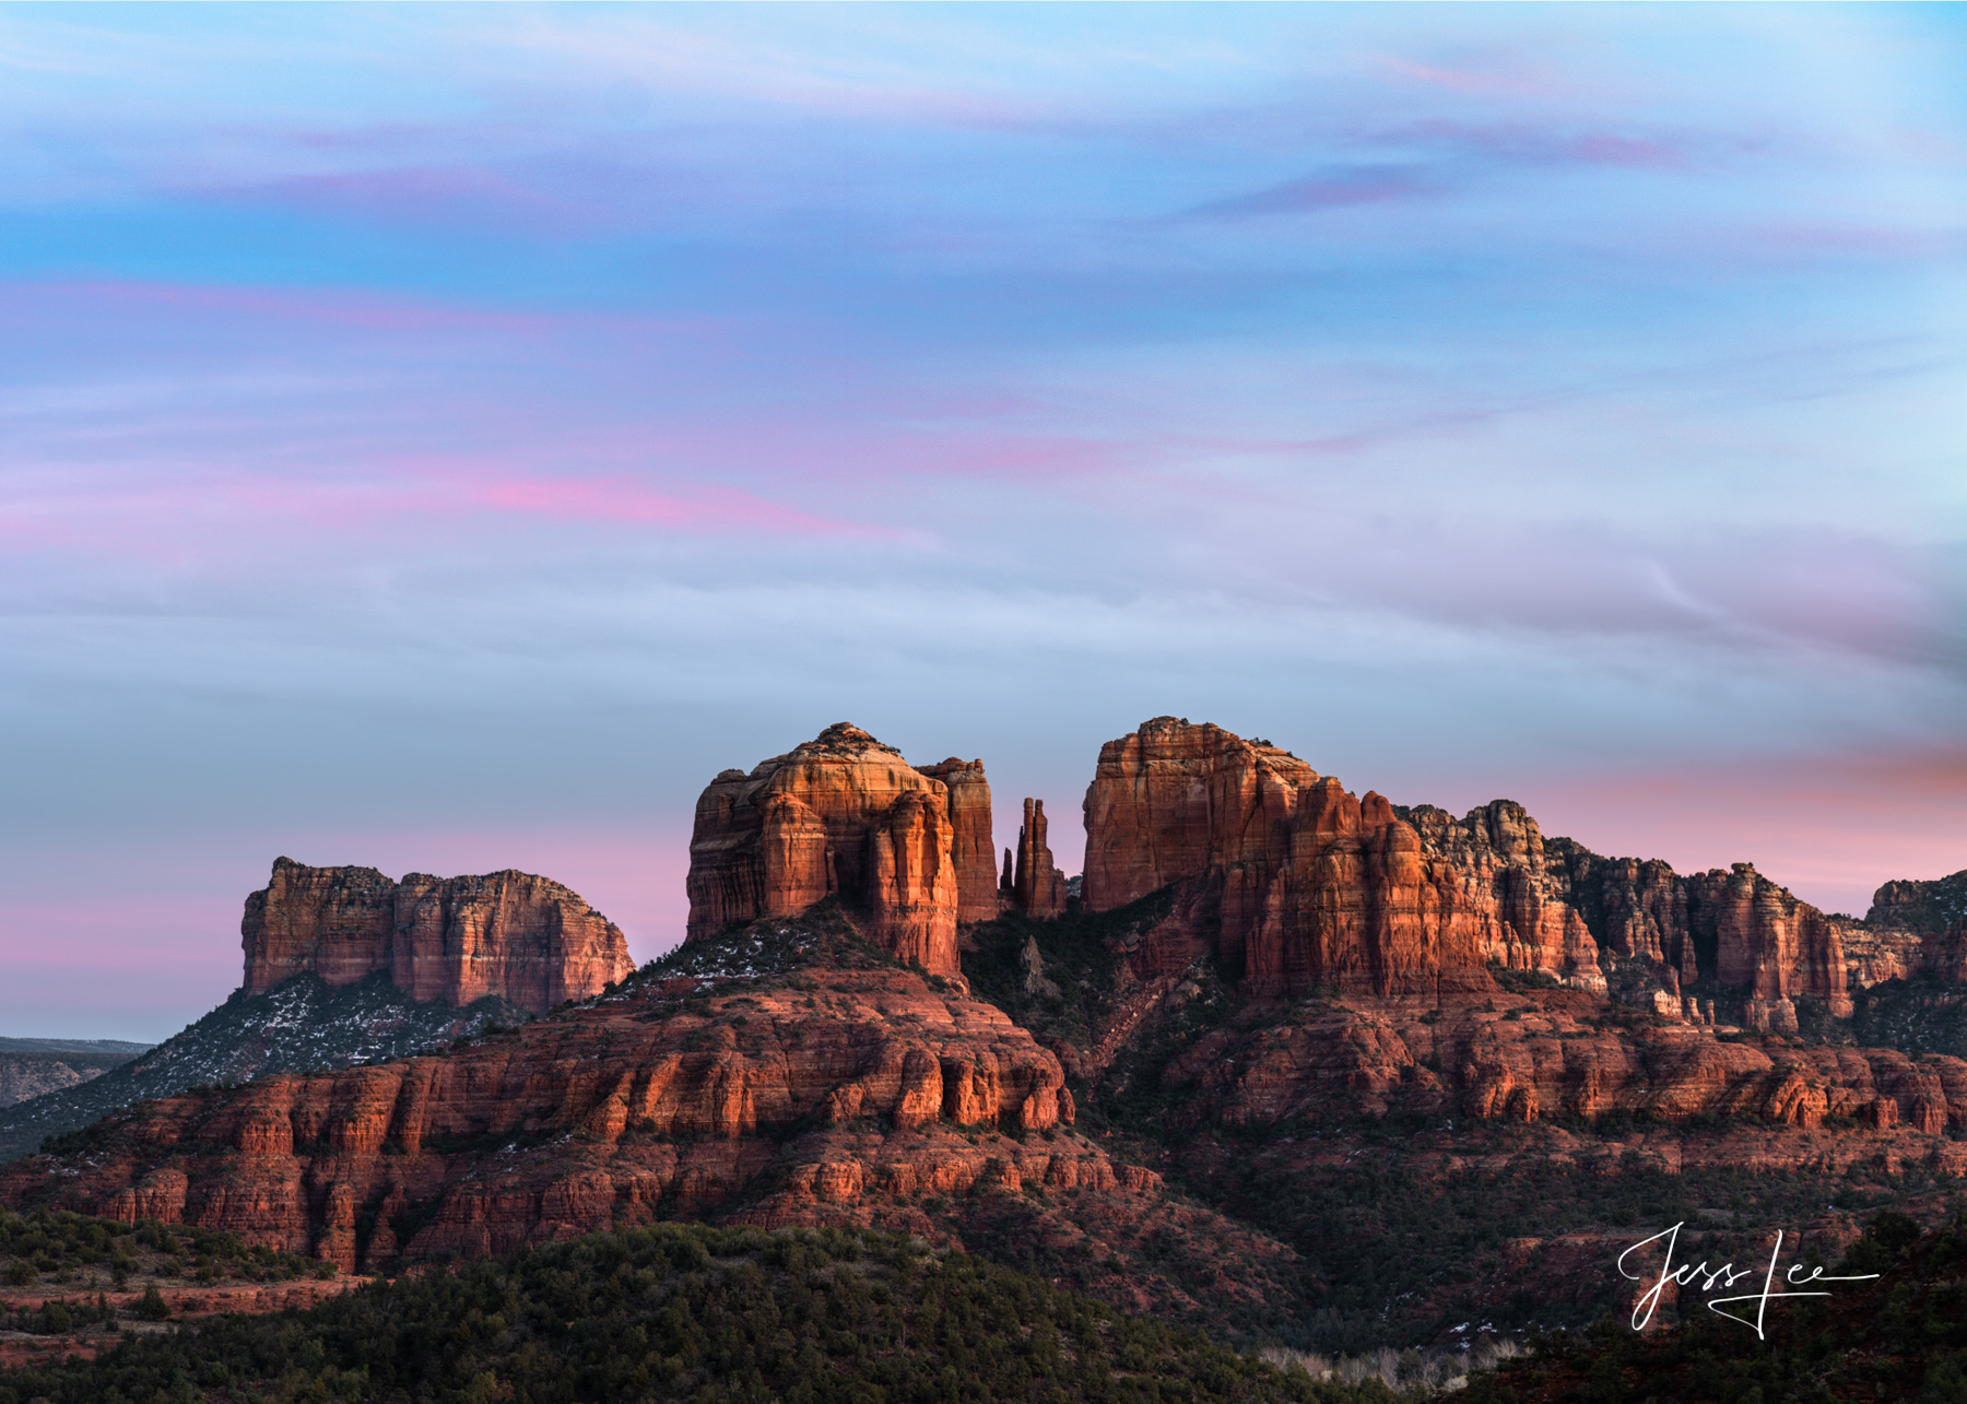
<instances>
[{"instance_id":1,"label":"tall sunlit red butte immediately right of the thin spires","mask_svg":"<svg viewBox=\"0 0 1967 1404\"><path fill-rule=\"evenodd\" d=\"M1182 885L1190 916L1145 944L1192 946L1196 922L1255 995L1316 987L1406 995L1489 989L1489 964L1603 989L1583 920L1542 871L1520 806L1418 824L1304 761L1216 726L1155 718L1100 751L1086 794L1086 905Z\"/></svg>"}]
</instances>

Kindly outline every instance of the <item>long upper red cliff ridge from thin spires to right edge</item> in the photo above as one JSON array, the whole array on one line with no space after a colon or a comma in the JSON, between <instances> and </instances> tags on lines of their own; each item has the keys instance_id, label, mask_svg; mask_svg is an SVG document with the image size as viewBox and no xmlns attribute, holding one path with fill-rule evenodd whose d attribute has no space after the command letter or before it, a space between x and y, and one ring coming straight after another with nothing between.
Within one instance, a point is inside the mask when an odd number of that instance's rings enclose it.
<instances>
[{"instance_id":1,"label":"long upper red cliff ridge from thin spires to right edge","mask_svg":"<svg viewBox=\"0 0 1967 1404\"><path fill-rule=\"evenodd\" d=\"M1798 997L1849 1017L1853 989L1967 973L1967 924L1932 920L1955 879L1886 885L1869 922L1827 916L1749 863L1682 877L1546 842L1513 800L1458 820L1353 798L1288 751L1176 718L1102 747L1086 828L1090 910L1180 889L1143 973L1214 948L1255 995L1475 991L1497 967L1603 991L1629 962L1629 993L1662 1015L1713 1023L1719 997L1729 1019L1794 1032ZM1932 930L1890 924L1908 912Z\"/></svg>"}]
</instances>

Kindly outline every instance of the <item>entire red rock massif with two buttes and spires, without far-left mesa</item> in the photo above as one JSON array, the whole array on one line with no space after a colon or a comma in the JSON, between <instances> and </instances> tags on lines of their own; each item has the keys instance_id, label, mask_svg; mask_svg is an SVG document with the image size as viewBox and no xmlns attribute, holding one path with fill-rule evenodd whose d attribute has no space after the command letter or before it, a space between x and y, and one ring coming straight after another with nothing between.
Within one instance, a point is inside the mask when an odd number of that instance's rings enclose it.
<instances>
[{"instance_id":1,"label":"entire red rock massif with two buttes and spires, without far-left mesa","mask_svg":"<svg viewBox=\"0 0 1967 1404\"><path fill-rule=\"evenodd\" d=\"M148 1103L0 1201L350 1268L655 1217L873 1225L1039 1253L1135 1308L1288 1331L1343 1306L1389 1331L1357 1225L1471 1164L1591 1166L1574 1192L1644 1180L1666 1207L1662 1180L1800 1178L1770 1211L1814 1205L1823 1233L1825 1196L1967 1170L1967 1062L1782 1032L1957 969L1943 930L1825 916L1747 865L1599 857L1509 800L1353 796L1174 718L1102 749L1086 814L1082 901L1027 802L999 914L958 940L984 910L982 765L828 728L706 789L690 938L618 989L445 1054ZM1414 1148L1389 1203L1353 1168L1393 1135ZM1320 1199L1353 1215L1336 1237ZM1469 1272L1581 1282L1631 1221L1481 1239Z\"/></svg>"}]
</instances>

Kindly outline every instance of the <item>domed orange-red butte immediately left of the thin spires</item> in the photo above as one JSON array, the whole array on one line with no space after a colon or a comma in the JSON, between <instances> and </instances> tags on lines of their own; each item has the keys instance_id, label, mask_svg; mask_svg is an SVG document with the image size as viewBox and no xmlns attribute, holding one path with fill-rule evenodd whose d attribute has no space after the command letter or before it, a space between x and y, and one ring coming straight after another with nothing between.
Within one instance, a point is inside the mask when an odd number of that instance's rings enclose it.
<instances>
[{"instance_id":1,"label":"domed orange-red butte immediately left of the thin spires","mask_svg":"<svg viewBox=\"0 0 1967 1404\"><path fill-rule=\"evenodd\" d=\"M724 771L696 800L686 940L797 916L838 893L869 914L875 944L934 975L960 973L958 851L970 865L970 908L982 910L989 787L980 761L958 769L960 800L901 751L840 722L749 775Z\"/></svg>"}]
</instances>

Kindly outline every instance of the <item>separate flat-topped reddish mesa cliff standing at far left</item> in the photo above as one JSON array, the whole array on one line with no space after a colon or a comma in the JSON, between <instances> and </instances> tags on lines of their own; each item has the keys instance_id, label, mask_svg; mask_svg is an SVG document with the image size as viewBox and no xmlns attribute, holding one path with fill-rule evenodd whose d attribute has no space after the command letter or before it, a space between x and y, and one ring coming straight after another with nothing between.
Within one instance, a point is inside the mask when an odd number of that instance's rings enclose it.
<instances>
[{"instance_id":1,"label":"separate flat-topped reddish mesa cliff standing at far left","mask_svg":"<svg viewBox=\"0 0 1967 1404\"><path fill-rule=\"evenodd\" d=\"M303 971L352 985L372 971L411 999L506 999L543 1013L586 999L635 964L627 942L578 895L529 873L391 883L372 867L273 861L240 922L246 993Z\"/></svg>"}]
</instances>

